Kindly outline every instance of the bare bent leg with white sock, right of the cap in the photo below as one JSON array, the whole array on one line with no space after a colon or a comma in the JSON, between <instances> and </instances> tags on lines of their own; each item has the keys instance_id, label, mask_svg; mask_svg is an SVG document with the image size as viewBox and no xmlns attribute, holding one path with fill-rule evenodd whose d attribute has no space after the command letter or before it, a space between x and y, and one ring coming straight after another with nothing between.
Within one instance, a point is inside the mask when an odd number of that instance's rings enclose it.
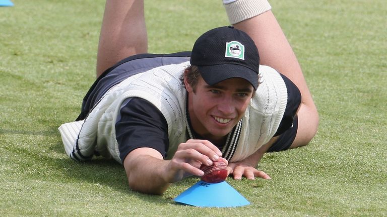
<instances>
[{"instance_id":1,"label":"bare bent leg with white sock, right of the cap","mask_svg":"<svg viewBox=\"0 0 387 217\"><path fill-rule=\"evenodd\" d=\"M233 26L246 32L254 40L260 52L261 64L271 66L287 76L301 91L298 130L290 148L306 145L317 132L317 108L293 49L270 10L269 3L266 0L238 0L225 5L225 8ZM242 16L235 18L235 15Z\"/></svg>"}]
</instances>

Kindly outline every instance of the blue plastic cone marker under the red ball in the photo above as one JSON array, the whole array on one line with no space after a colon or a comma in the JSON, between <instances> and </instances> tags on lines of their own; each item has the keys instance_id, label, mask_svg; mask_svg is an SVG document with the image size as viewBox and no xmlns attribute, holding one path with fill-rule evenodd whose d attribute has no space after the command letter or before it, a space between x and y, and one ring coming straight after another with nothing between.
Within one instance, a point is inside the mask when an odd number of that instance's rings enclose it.
<instances>
[{"instance_id":1,"label":"blue plastic cone marker under the red ball","mask_svg":"<svg viewBox=\"0 0 387 217\"><path fill-rule=\"evenodd\" d=\"M220 183L199 181L173 200L187 205L202 207L234 207L250 204L246 198L226 181Z\"/></svg>"}]
</instances>

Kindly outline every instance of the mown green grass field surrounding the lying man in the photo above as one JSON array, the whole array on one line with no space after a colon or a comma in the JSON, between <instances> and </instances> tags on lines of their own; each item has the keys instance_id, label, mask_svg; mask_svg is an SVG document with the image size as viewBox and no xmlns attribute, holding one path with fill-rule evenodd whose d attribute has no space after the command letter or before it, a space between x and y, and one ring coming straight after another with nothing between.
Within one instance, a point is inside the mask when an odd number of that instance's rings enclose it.
<instances>
[{"instance_id":1,"label":"mown green grass field surrounding the lying man","mask_svg":"<svg viewBox=\"0 0 387 217\"><path fill-rule=\"evenodd\" d=\"M251 204L199 208L127 186L122 166L76 163L57 128L95 78L104 1L0 7L0 216L387 216L387 1L270 1L299 59L320 126L307 147L267 154L273 179L227 181ZM146 0L149 52L190 50L228 25L220 0Z\"/></svg>"}]
</instances>

